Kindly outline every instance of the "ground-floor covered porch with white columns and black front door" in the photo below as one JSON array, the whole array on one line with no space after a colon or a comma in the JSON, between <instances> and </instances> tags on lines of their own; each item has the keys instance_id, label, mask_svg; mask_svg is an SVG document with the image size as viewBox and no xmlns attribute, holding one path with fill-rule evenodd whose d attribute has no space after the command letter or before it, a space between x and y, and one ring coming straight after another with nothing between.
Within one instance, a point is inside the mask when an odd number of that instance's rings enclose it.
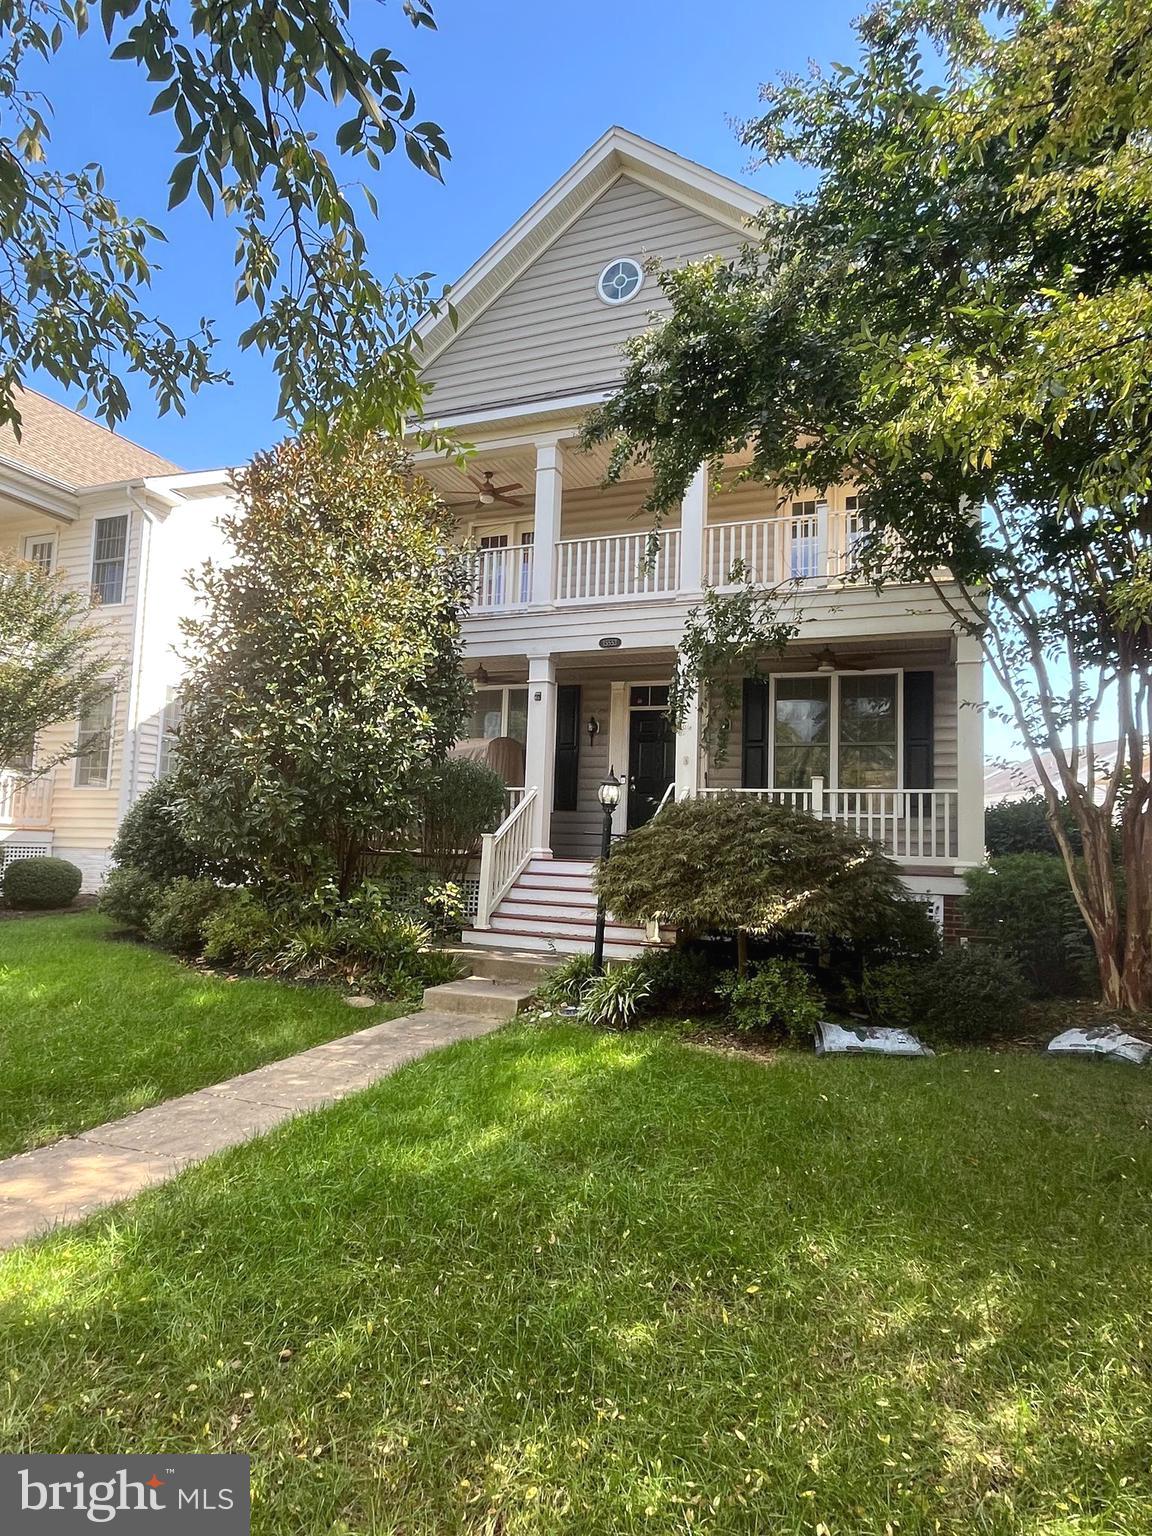
<instances>
[{"instance_id":1,"label":"ground-floor covered porch with white columns and black front door","mask_svg":"<svg viewBox=\"0 0 1152 1536\"><path fill-rule=\"evenodd\" d=\"M983 856L982 670L952 636L797 644L745 680L723 753L700 711L667 719L671 647L485 657L475 737L513 737L524 777L493 834L492 888L528 859L593 860L598 788L622 780L613 834L671 796L754 794L842 822L906 874L955 874ZM507 857L504 857L507 854Z\"/></svg>"}]
</instances>

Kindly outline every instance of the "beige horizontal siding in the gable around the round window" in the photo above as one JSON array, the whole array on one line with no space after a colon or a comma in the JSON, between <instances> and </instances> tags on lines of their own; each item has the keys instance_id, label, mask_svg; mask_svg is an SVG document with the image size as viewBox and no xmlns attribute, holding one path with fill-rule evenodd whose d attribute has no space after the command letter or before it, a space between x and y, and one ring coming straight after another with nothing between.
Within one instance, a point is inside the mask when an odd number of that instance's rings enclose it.
<instances>
[{"instance_id":1,"label":"beige horizontal siding in the gable around the round window","mask_svg":"<svg viewBox=\"0 0 1152 1536\"><path fill-rule=\"evenodd\" d=\"M613 384L621 344L668 304L653 275L630 303L604 304L602 269L616 257L677 266L739 246L731 229L621 177L429 366L429 416Z\"/></svg>"}]
</instances>

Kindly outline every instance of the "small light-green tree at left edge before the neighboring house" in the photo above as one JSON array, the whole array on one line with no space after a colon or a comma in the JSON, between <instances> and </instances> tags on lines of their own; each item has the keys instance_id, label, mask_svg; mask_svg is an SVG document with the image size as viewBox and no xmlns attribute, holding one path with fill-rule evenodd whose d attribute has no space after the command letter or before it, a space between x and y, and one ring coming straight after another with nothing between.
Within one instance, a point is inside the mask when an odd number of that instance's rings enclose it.
<instances>
[{"instance_id":1,"label":"small light-green tree at left edge before the neighboring house","mask_svg":"<svg viewBox=\"0 0 1152 1536\"><path fill-rule=\"evenodd\" d=\"M115 687L114 664L88 601L38 565L0 550L0 768L26 762L43 731L75 720ZM35 773L91 746L40 739Z\"/></svg>"}]
</instances>

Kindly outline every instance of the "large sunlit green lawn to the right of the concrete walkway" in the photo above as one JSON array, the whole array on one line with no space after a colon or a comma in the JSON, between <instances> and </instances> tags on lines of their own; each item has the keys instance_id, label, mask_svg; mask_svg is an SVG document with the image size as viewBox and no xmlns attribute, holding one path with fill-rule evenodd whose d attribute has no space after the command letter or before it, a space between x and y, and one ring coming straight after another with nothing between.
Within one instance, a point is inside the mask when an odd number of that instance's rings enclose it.
<instances>
[{"instance_id":1,"label":"large sunlit green lawn to the right of the concrete walkway","mask_svg":"<svg viewBox=\"0 0 1152 1536\"><path fill-rule=\"evenodd\" d=\"M261 1536L1149 1530L1152 1077L518 1023L0 1264L0 1448Z\"/></svg>"}]
</instances>

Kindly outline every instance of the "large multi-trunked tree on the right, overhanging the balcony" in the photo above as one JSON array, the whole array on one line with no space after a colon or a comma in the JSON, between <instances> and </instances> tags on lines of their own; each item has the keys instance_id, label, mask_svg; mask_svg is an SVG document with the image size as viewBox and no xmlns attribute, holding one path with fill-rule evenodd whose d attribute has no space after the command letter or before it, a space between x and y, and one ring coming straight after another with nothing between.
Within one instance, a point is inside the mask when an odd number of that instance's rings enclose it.
<instances>
[{"instance_id":1,"label":"large multi-trunked tree on the right, overhanging the balcony","mask_svg":"<svg viewBox=\"0 0 1152 1536\"><path fill-rule=\"evenodd\" d=\"M651 464L656 511L745 445L783 495L852 479L869 578L952 571L937 598L1009 700L1104 1001L1144 1009L1146 6L1009 0L986 22L971 0L895 0L857 26L856 66L766 86L743 129L813 190L770 209L740 260L662 276L671 313L588 436L614 441L616 472Z\"/></svg>"}]
</instances>

